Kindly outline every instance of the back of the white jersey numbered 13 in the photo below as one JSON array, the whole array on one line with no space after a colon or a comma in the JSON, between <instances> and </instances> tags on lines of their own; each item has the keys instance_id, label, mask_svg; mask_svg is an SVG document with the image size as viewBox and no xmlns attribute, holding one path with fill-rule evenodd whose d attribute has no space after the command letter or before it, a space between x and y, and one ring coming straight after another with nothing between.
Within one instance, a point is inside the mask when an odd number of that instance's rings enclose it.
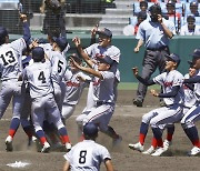
<instances>
[{"instance_id":1,"label":"back of the white jersey numbered 13","mask_svg":"<svg viewBox=\"0 0 200 171\"><path fill-rule=\"evenodd\" d=\"M10 44L0 47L1 80L18 79L20 73L19 54Z\"/></svg>"}]
</instances>

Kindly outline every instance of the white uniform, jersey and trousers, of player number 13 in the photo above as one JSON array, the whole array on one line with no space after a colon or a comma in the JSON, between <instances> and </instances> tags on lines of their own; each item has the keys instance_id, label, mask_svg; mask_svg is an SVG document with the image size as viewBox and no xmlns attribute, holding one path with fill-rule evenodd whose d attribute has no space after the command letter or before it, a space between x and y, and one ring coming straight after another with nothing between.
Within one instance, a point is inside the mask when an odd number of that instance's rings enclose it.
<instances>
[{"instance_id":1,"label":"white uniform, jersey and trousers, of player number 13","mask_svg":"<svg viewBox=\"0 0 200 171\"><path fill-rule=\"evenodd\" d=\"M21 54L26 47L27 44L23 38L0 46L0 72L2 81L0 91L0 118L2 118L12 97L13 118L20 118L23 97L21 91L22 81L18 81L18 78L22 69Z\"/></svg>"}]
</instances>

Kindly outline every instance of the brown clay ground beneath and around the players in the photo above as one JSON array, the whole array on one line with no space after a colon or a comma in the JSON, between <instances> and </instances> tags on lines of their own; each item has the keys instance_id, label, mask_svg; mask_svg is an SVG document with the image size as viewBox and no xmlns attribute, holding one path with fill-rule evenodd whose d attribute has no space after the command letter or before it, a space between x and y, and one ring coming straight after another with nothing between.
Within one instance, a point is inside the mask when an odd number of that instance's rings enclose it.
<instances>
[{"instance_id":1,"label":"brown clay ground beneath and around the players","mask_svg":"<svg viewBox=\"0 0 200 171\"><path fill-rule=\"evenodd\" d=\"M159 101L157 98L147 95L144 107L137 108L132 105L132 98L136 94L133 90L119 91L119 98L117 102L116 112L110 121L110 124L116 131L122 135L123 141L120 145L111 148L111 140L104 134L99 134L98 142L106 145L112 157L112 162L116 171L198 171L200 167L199 157L187 157L187 151L192 148L190 141L186 137L179 123L176 124L176 133L173 138L173 144L170 151L164 157L150 157L143 155L137 151L132 151L128 148L129 143L138 141L138 132L143 113L158 108ZM72 143L78 142L77 125L74 123L76 115L78 115L86 104L86 91L81 98L79 105L76 109L74 114L67 122L67 128ZM12 170L27 170L27 171L60 171L64 162L64 152L50 152L39 153L36 151L34 145L27 147L27 137L22 129L19 128L13 141L13 152L6 152L4 139L7 138L9 123L11 118L11 108L7 110L0 121L0 171ZM197 123L200 129L200 122ZM148 133L146 141L146 149L150 145L151 130ZM163 134L164 137L164 134ZM13 169L8 167L8 163L16 161L28 162L30 165L20 169ZM101 170L104 171L103 164Z\"/></svg>"}]
</instances>

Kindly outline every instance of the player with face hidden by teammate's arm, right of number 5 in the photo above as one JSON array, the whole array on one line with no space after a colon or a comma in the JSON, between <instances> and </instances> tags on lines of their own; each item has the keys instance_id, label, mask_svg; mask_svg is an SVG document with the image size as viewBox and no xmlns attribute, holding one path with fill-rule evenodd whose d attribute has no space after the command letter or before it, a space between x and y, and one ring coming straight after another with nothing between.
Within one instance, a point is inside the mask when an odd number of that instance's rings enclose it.
<instances>
[{"instance_id":1,"label":"player with face hidden by teammate's arm, right of number 5","mask_svg":"<svg viewBox=\"0 0 200 171\"><path fill-rule=\"evenodd\" d=\"M82 59L79 58L76 53L68 57L69 68L64 73L66 95L62 104L63 120L67 120L71 117L76 105L79 102L83 89L88 86L87 82L91 80L89 76L84 74L72 64L71 59L73 59L80 66L82 63Z\"/></svg>"}]
</instances>

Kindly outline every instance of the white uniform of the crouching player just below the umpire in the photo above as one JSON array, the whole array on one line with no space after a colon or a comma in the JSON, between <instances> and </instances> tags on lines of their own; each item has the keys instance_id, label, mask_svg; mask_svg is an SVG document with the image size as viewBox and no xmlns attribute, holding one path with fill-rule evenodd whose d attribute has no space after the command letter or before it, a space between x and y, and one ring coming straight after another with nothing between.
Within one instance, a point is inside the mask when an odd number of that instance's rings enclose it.
<instances>
[{"instance_id":1,"label":"white uniform of the crouching player just below the umpire","mask_svg":"<svg viewBox=\"0 0 200 171\"><path fill-rule=\"evenodd\" d=\"M171 92L172 87L179 86L179 92L174 98L163 98L167 107L158 108L142 117L142 122L151 124L152 128L163 129L167 123L180 121L182 117L184 93L182 89L183 76L177 71L163 72L153 78L156 83L162 86L163 93Z\"/></svg>"}]
</instances>

